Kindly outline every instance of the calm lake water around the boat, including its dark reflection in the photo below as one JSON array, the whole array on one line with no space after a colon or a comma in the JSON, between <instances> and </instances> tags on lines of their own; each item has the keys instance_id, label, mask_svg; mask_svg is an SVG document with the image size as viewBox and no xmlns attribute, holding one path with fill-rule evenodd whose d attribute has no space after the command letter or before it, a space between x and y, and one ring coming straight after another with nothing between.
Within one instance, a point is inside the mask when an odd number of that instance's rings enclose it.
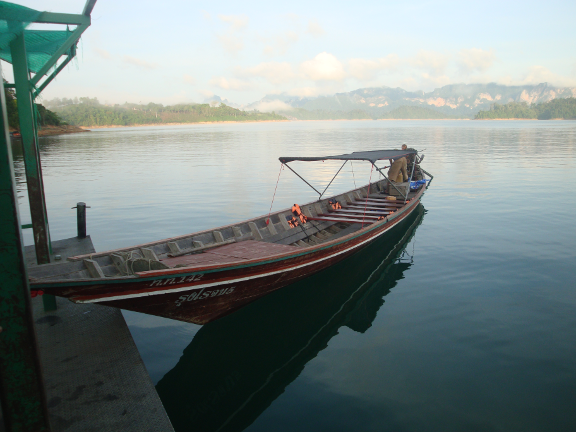
<instances>
[{"instance_id":1,"label":"calm lake water around the boat, including its dark reflection","mask_svg":"<svg viewBox=\"0 0 576 432\"><path fill-rule=\"evenodd\" d=\"M78 201L91 206L98 251L266 214L279 156L403 143L424 150L434 180L385 241L203 327L124 312L177 431L576 430L576 122L252 123L45 138L52 238L76 235ZM314 185L339 168L293 166ZM330 190L370 175L347 165ZM273 209L315 196L284 170Z\"/></svg>"}]
</instances>

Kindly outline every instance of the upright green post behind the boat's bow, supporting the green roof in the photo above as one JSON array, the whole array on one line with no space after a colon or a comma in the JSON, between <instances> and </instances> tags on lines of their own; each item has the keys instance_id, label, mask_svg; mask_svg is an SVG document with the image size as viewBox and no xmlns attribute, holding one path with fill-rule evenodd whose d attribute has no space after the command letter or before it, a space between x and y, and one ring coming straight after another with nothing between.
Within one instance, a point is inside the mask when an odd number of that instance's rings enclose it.
<instances>
[{"instance_id":1,"label":"upright green post behind the boat's bow, supporting the green roof","mask_svg":"<svg viewBox=\"0 0 576 432\"><path fill-rule=\"evenodd\" d=\"M18 37L10 43L10 53L12 55L14 83L16 84L18 116L20 119L20 133L22 134L22 149L24 152L24 166L26 167L26 182L28 185L32 229L34 231L36 259L38 264L47 264L50 262L50 234L42 183L42 167L38 151L38 131L34 121L33 87L29 82L30 72L26 58L24 30L22 28L20 28Z\"/></svg>"}]
</instances>

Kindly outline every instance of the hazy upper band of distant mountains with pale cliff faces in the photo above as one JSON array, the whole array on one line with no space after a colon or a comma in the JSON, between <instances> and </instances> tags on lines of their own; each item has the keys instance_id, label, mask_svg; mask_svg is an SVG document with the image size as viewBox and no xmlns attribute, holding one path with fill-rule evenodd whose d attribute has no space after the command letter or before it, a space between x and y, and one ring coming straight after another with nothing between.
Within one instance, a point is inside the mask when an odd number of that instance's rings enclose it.
<instances>
[{"instance_id":1,"label":"hazy upper band of distant mountains with pale cliff faces","mask_svg":"<svg viewBox=\"0 0 576 432\"><path fill-rule=\"evenodd\" d=\"M230 105L245 110L275 111L287 115L298 108L321 112L360 110L372 118L386 117L386 113L403 106L414 106L428 108L448 117L472 118L479 111L490 109L494 103L526 102L530 105L568 97L576 97L576 87L554 87L547 83L523 86L490 83L452 84L431 92L410 92L399 87L382 86L315 98L272 94L247 106ZM212 99L221 101L218 96L208 98L207 101Z\"/></svg>"}]
</instances>

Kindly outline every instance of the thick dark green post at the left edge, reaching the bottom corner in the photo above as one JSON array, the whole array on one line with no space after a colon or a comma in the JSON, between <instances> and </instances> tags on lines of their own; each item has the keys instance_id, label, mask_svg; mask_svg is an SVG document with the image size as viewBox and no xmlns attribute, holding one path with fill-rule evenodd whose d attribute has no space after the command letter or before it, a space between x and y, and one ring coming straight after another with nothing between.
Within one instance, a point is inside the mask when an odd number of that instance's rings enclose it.
<instances>
[{"instance_id":1,"label":"thick dark green post at the left edge, reaching the bottom corner","mask_svg":"<svg viewBox=\"0 0 576 432\"><path fill-rule=\"evenodd\" d=\"M1 75L1 66L0 66ZM50 431L20 215L4 88L0 86L0 397L7 432Z\"/></svg>"}]
</instances>

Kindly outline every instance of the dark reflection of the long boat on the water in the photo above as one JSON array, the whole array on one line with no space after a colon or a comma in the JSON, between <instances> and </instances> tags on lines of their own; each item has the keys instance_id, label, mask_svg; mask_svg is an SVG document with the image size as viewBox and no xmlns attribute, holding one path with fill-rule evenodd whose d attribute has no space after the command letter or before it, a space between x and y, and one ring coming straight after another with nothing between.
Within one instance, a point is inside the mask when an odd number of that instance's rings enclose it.
<instances>
[{"instance_id":1,"label":"dark reflection of the long boat on the water","mask_svg":"<svg viewBox=\"0 0 576 432\"><path fill-rule=\"evenodd\" d=\"M202 327L156 385L176 431L242 431L341 326L364 333L412 265L422 204L363 251Z\"/></svg>"}]
</instances>

